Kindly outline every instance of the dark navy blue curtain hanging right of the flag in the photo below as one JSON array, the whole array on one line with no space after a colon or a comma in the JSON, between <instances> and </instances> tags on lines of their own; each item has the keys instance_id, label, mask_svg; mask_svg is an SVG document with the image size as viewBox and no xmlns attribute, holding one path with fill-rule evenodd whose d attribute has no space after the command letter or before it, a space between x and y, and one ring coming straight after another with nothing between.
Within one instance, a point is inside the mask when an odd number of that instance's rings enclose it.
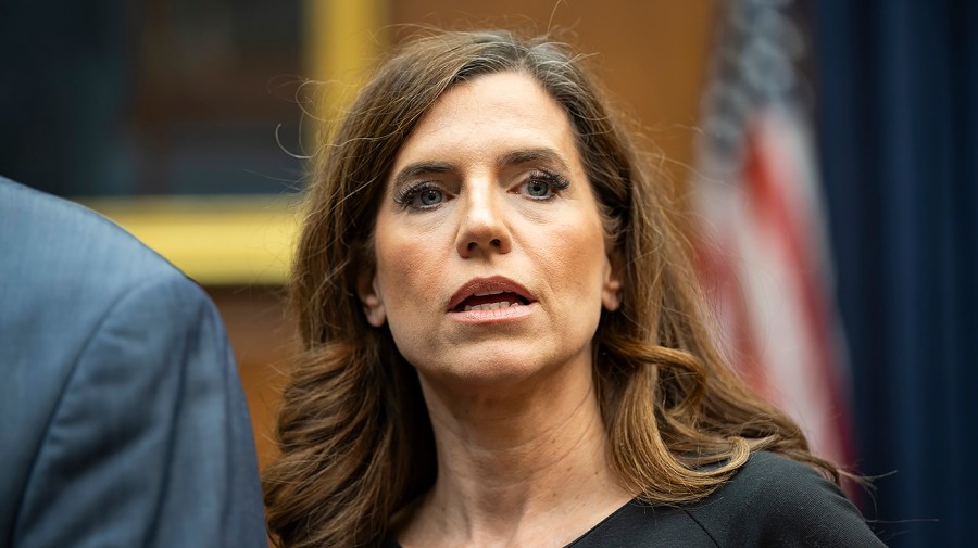
<instances>
[{"instance_id":1,"label":"dark navy blue curtain hanging right of the flag","mask_svg":"<svg viewBox=\"0 0 978 548\"><path fill-rule=\"evenodd\" d=\"M892 546L971 546L978 4L814 2L819 149L861 466ZM870 509L868 513L874 512Z\"/></svg>"}]
</instances>

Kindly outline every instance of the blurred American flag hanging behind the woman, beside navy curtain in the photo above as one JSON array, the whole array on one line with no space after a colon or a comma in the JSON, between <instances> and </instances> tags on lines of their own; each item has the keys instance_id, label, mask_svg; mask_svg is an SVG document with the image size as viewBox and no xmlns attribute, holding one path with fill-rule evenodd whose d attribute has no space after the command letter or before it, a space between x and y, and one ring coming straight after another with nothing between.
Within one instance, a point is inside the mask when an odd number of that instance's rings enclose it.
<instances>
[{"instance_id":1,"label":"blurred American flag hanging behind the woman, beside navy curtain","mask_svg":"<svg viewBox=\"0 0 978 548\"><path fill-rule=\"evenodd\" d=\"M800 8L724 4L697 144L700 270L744 379L801 425L815 454L852 464Z\"/></svg>"}]
</instances>

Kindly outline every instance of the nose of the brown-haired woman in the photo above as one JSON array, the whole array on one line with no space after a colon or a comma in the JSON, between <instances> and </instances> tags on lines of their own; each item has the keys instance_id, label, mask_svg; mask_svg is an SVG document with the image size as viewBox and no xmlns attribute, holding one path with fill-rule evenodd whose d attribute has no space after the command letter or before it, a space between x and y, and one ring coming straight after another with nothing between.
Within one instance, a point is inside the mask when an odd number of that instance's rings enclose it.
<instances>
[{"instance_id":1,"label":"nose of the brown-haired woman","mask_svg":"<svg viewBox=\"0 0 978 548\"><path fill-rule=\"evenodd\" d=\"M512 234L506 224L505 196L494 184L468 186L455 247L464 258L510 253Z\"/></svg>"}]
</instances>

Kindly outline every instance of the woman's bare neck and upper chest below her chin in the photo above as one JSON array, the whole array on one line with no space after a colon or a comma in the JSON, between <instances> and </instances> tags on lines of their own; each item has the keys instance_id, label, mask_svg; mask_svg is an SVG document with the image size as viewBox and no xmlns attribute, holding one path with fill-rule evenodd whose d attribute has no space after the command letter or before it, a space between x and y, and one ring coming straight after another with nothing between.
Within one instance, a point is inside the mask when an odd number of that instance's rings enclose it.
<instances>
[{"instance_id":1,"label":"woman's bare neck and upper chest below her chin","mask_svg":"<svg viewBox=\"0 0 978 548\"><path fill-rule=\"evenodd\" d=\"M631 498L609 467L582 366L518 393L494 391L506 396L460 397L422 377L438 480L401 535L405 546L563 545Z\"/></svg>"}]
</instances>

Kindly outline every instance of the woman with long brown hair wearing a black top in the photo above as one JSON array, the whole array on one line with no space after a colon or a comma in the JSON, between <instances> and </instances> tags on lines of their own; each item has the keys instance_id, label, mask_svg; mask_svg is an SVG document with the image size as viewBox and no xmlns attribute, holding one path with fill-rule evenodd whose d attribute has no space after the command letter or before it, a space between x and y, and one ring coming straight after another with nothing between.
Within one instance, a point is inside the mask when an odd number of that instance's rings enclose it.
<instances>
[{"instance_id":1,"label":"woman with long brown hair wearing a black top","mask_svg":"<svg viewBox=\"0 0 978 548\"><path fill-rule=\"evenodd\" d=\"M564 47L408 43L309 203L281 546L878 543L727 369L650 163Z\"/></svg>"}]
</instances>

